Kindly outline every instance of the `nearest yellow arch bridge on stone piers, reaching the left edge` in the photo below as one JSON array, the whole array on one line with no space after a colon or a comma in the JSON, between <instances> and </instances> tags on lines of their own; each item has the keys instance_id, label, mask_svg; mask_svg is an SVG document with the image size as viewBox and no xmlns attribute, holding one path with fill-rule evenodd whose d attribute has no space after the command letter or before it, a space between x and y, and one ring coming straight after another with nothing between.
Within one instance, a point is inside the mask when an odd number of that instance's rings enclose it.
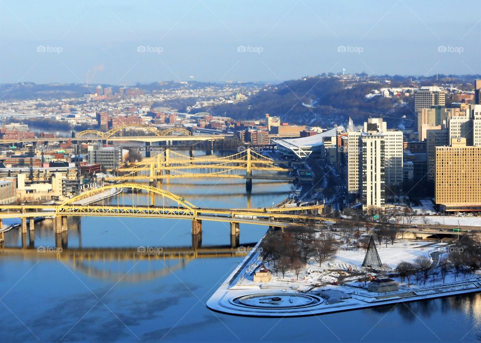
<instances>
[{"instance_id":1,"label":"nearest yellow arch bridge on stone piers, reaching the left edge","mask_svg":"<svg viewBox=\"0 0 481 343\"><path fill-rule=\"evenodd\" d=\"M99 200L106 191L114 188L118 192L107 204ZM141 193L147 197L139 196ZM2 218L21 218L21 231L27 233L27 218L31 218L29 225L33 231L33 218L52 216L55 217L55 232L62 233L68 230L68 216L175 218L191 220L192 234L198 235L202 232L202 220L208 220L229 222L230 234L236 236L238 242L240 223L288 227L332 220L318 216L322 208L323 205L258 209L199 208L166 190L147 184L124 183L89 190L57 205L3 205L0 224Z\"/></svg>"}]
</instances>

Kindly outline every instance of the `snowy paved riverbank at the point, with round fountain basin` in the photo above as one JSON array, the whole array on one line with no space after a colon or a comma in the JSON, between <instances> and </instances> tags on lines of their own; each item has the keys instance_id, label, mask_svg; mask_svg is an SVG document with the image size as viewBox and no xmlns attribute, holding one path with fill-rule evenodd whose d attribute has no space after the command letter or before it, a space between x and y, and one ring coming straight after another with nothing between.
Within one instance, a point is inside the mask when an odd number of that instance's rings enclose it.
<instances>
[{"instance_id":1,"label":"snowy paved riverbank at the point, with round fountain basin","mask_svg":"<svg viewBox=\"0 0 481 343\"><path fill-rule=\"evenodd\" d=\"M399 290L385 293L369 291L365 283L357 282L357 277L342 285L312 284L310 282L313 280L299 282L294 278L280 280L274 276L270 282L252 282L255 271L262 265L259 252L261 242L207 300L209 309L243 316L309 316L481 292L480 275L459 277L458 280L454 275L447 275L446 282L439 280L431 284L428 282L428 285L419 283L409 286L401 284ZM433 249L436 251L439 247ZM342 261L344 256L342 253L340 255L335 259ZM299 296L311 297L311 301L300 301Z\"/></svg>"}]
</instances>

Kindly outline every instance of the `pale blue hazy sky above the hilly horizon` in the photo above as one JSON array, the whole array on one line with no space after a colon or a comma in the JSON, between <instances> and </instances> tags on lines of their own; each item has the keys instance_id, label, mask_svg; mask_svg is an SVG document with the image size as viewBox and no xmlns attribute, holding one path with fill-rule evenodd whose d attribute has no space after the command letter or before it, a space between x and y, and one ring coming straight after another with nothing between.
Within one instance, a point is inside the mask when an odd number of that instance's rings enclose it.
<instances>
[{"instance_id":1,"label":"pale blue hazy sky above the hilly horizon","mask_svg":"<svg viewBox=\"0 0 481 343\"><path fill-rule=\"evenodd\" d=\"M480 74L477 1L0 0L0 83Z\"/></svg>"}]
</instances>

